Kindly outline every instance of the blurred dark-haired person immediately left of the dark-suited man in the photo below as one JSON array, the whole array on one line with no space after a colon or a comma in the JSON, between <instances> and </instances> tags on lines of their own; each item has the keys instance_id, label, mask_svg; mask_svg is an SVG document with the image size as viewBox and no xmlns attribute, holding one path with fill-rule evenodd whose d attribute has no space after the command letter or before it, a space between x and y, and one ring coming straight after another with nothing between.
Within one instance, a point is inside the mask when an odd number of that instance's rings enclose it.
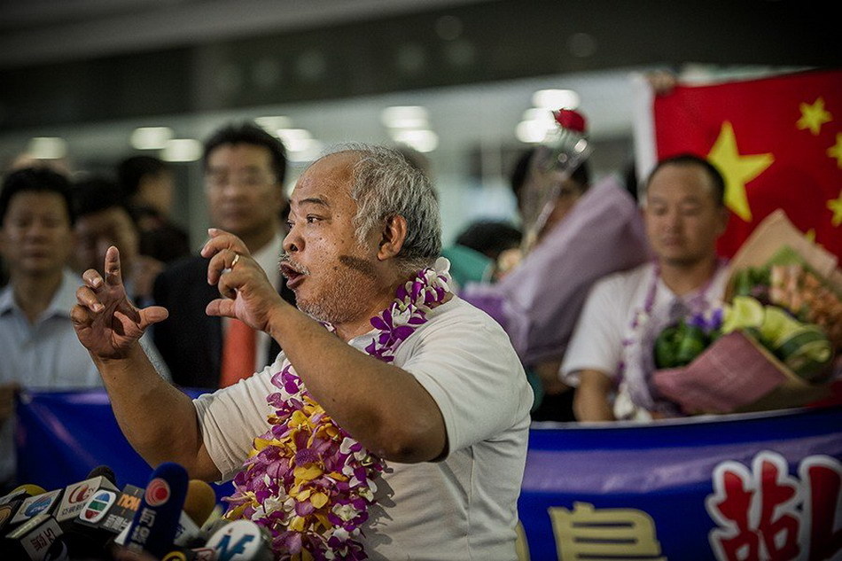
<instances>
[{"instance_id":1,"label":"blurred dark-haired person immediately left of the dark-suited man","mask_svg":"<svg viewBox=\"0 0 842 561\"><path fill-rule=\"evenodd\" d=\"M189 255L187 231L172 220L175 175L167 162L131 156L118 164L117 180L140 231L139 252L164 263Z\"/></svg>"}]
</instances>

